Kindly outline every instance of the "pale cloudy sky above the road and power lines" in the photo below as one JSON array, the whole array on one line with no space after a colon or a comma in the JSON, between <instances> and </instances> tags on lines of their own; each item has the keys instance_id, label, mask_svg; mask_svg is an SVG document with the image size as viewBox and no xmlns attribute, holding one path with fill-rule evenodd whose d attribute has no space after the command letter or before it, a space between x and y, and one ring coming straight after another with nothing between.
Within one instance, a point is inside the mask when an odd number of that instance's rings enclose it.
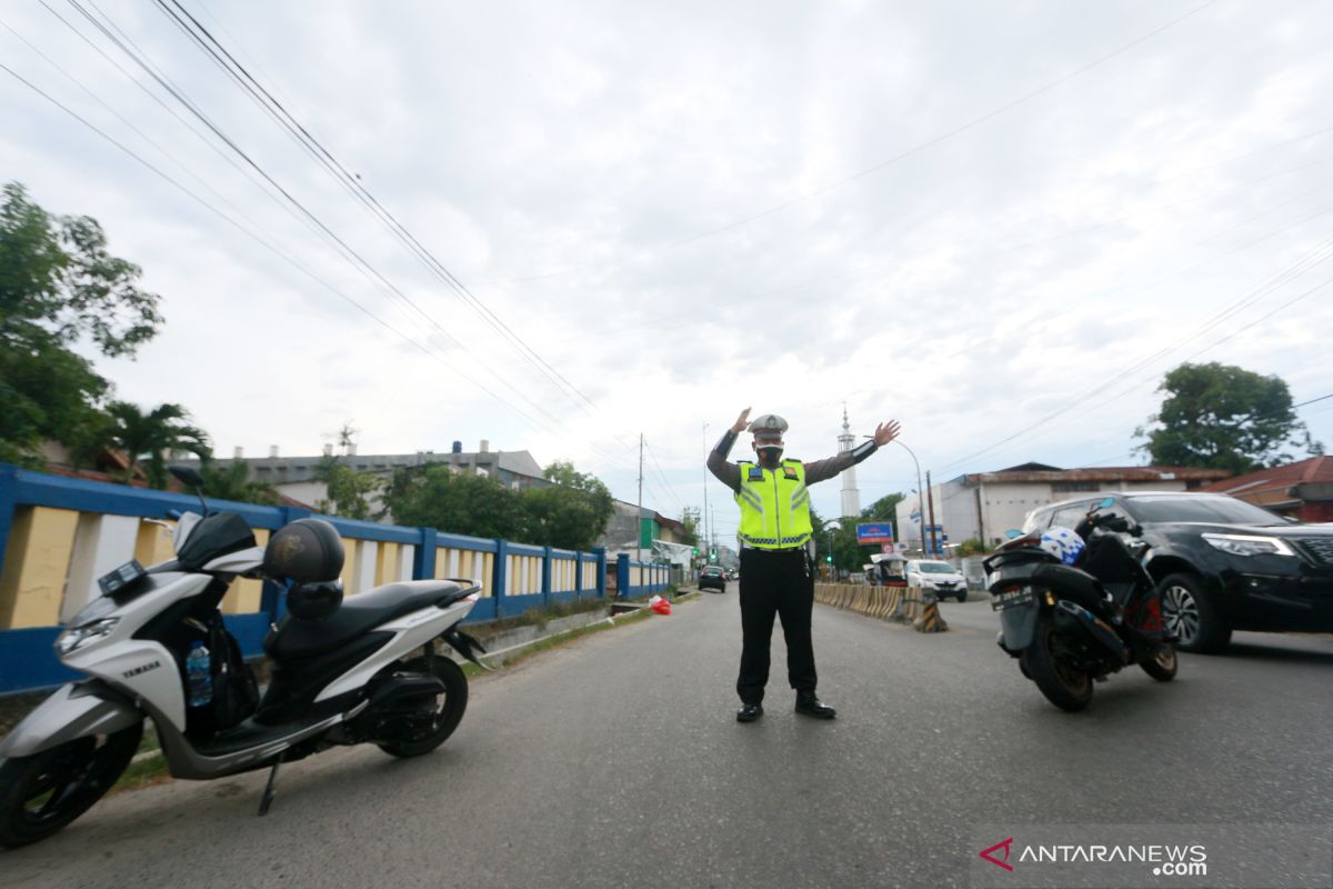
<instances>
[{"instance_id":1,"label":"pale cloudy sky above the road and power lines","mask_svg":"<svg viewBox=\"0 0 1333 889\"><path fill-rule=\"evenodd\" d=\"M24 0L0 180L143 267L167 324L97 367L223 456L351 423L633 501L643 435L644 502L680 516L746 405L808 460L844 404L897 419L942 480L1138 462L1186 360L1333 392L1321 0L163 1L317 148L156 3ZM1301 416L1333 444L1333 400ZM916 486L910 457L858 486Z\"/></svg>"}]
</instances>

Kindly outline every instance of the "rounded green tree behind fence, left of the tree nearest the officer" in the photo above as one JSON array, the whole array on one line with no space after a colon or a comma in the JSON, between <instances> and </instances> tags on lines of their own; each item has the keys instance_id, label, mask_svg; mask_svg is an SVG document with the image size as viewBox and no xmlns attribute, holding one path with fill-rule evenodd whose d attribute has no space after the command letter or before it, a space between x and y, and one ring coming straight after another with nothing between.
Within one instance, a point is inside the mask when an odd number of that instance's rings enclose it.
<instances>
[{"instance_id":1,"label":"rounded green tree behind fence, left of the tree nearest the officer","mask_svg":"<svg viewBox=\"0 0 1333 889\"><path fill-rule=\"evenodd\" d=\"M513 540L523 528L519 493L489 476L453 472L444 464L396 469L384 505L400 525L453 534Z\"/></svg>"}]
</instances>

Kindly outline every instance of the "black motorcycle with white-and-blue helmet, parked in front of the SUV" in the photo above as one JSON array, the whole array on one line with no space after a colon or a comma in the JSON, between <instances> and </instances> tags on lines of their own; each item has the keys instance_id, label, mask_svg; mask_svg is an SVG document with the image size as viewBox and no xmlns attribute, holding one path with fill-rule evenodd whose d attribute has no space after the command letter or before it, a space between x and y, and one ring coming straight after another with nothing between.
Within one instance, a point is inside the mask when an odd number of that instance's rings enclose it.
<instances>
[{"instance_id":1,"label":"black motorcycle with white-and-blue helmet, parked in front of the SUV","mask_svg":"<svg viewBox=\"0 0 1333 889\"><path fill-rule=\"evenodd\" d=\"M1144 568L1148 544L1126 544L1124 516L1102 501L1074 532L1086 541L1073 566L1041 548L1041 532L1010 540L985 560L996 642L1022 674L1065 710L1092 701L1093 682L1130 664L1161 682L1176 678L1176 646L1157 584Z\"/></svg>"}]
</instances>

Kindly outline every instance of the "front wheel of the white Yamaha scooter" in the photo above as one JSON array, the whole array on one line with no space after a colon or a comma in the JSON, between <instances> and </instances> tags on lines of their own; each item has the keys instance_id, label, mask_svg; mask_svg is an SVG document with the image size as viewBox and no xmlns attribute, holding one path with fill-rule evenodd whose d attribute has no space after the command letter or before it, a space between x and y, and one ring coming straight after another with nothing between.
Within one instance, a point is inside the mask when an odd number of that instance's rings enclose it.
<instances>
[{"instance_id":1,"label":"front wheel of the white Yamaha scooter","mask_svg":"<svg viewBox=\"0 0 1333 889\"><path fill-rule=\"evenodd\" d=\"M81 816L129 765L144 724L75 738L0 766L0 846L45 840Z\"/></svg>"}]
</instances>

